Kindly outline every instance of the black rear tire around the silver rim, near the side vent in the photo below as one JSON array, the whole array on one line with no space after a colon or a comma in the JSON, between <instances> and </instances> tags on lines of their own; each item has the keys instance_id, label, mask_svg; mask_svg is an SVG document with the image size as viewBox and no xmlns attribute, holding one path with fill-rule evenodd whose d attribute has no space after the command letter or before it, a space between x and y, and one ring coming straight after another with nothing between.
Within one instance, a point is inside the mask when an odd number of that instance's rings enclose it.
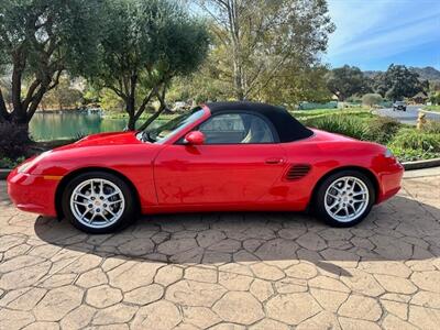
<instances>
[{"instance_id":1,"label":"black rear tire around the silver rim, near the side vent","mask_svg":"<svg viewBox=\"0 0 440 330\"><path fill-rule=\"evenodd\" d=\"M360 179L361 182L364 183L369 190L369 202L366 204L366 208L358 215L356 218L354 218L351 221L348 222L342 222L337 219L334 219L326 209L324 206L324 198L326 198L326 191L327 189L331 186L332 183L336 180L340 179L341 177L344 176L351 176ZM359 170L352 170L352 169L343 169L340 172L337 172L329 177L327 177L317 188L315 191L314 196L314 202L312 202L312 211L317 216L317 218L322 219L326 223L330 224L331 227L352 227L361 222L371 211L375 200L376 200L376 194L375 189L373 186L373 183L371 179L364 175L363 173Z\"/></svg>"}]
</instances>

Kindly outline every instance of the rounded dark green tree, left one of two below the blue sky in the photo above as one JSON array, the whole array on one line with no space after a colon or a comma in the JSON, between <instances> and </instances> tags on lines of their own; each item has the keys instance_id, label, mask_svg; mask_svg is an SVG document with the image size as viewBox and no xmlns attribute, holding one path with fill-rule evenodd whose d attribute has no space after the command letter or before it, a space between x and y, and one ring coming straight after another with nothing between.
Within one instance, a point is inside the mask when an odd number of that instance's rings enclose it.
<instances>
[{"instance_id":1,"label":"rounded dark green tree, left one of two below the blue sky","mask_svg":"<svg viewBox=\"0 0 440 330\"><path fill-rule=\"evenodd\" d=\"M327 75L327 87L339 101L344 101L355 94L371 91L370 81L361 69L349 65L332 69Z\"/></svg>"}]
</instances>

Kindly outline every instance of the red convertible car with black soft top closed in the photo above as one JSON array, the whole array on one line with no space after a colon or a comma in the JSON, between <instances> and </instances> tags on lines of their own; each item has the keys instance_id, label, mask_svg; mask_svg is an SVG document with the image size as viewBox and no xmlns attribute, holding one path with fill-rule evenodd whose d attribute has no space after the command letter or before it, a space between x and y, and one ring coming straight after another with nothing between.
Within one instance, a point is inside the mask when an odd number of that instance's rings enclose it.
<instances>
[{"instance_id":1,"label":"red convertible car with black soft top closed","mask_svg":"<svg viewBox=\"0 0 440 330\"><path fill-rule=\"evenodd\" d=\"M43 153L8 190L19 209L90 233L139 212L309 210L349 227L399 190L403 172L385 146L310 130L282 108L216 102Z\"/></svg>"}]
</instances>

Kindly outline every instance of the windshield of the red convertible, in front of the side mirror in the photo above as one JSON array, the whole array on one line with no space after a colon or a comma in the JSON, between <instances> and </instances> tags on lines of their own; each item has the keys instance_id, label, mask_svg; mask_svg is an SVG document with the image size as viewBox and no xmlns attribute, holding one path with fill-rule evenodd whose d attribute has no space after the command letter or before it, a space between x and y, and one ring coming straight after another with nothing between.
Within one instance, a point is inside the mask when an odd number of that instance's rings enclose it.
<instances>
[{"instance_id":1,"label":"windshield of the red convertible, in front of the side mirror","mask_svg":"<svg viewBox=\"0 0 440 330\"><path fill-rule=\"evenodd\" d=\"M156 118L144 131L139 133L139 139L144 142L163 143L177 132L200 119L202 116L204 110L200 107L197 107L165 123L163 123L160 118Z\"/></svg>"}]
</instances>

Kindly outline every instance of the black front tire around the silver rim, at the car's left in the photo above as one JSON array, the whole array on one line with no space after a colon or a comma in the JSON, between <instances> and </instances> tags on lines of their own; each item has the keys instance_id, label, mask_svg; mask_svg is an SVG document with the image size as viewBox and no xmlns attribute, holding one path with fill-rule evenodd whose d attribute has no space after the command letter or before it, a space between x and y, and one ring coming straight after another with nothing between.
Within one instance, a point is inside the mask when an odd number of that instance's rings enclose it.
<instances>
[{"instance_id":1,"label":"black front tire around the silver rim, at the car's left","mask_svg":"<svg viewBox=\"0 0 440 330\"><path fill-rule=\"evenodd\" d=\"M108 227L102 227L102 228L88 227L78 221L78 219L74 216L74 211L70 209L70 197L75 188L89 179L106 179L116 185L122 191L124 198L124 207L123 210L121 211L122 213L114 223ZM125 227L130 226L136 219L138 216L136 199L134 197L134 191L132 191L130 186L117 175L97 170L79 174L66 185L63 191L62 207L66 219L68 219L74 224L74 227L84 232L92 234L103 234L122 230Z\"/></svg>"}]
</instances>

